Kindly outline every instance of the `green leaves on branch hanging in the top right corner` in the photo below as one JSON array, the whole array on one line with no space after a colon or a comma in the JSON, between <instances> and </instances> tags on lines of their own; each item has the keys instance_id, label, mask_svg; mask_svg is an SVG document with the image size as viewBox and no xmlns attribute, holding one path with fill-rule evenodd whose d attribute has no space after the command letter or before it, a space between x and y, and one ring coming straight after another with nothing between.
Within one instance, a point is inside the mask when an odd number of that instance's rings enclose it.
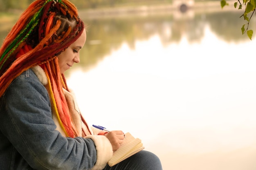
<instances>
[{"instance_id":1,"label":"green leaves on branch hanging in the top right corner","mask_svg":"<svg viewBox=\"0 0 256 170\"><path fill-rule=\"evenodd\" d=\"M239 2L239 4L238 4L238 2ZM226 0L221 0L220 5L221 5L221 8L223 8L229 4L227 3ZM243 26L241 28L242 34L244 34L246 32L249 39L252 40L253 30L251 30L251 29L249 30L249 23L252 18L252 15L254 13L256 13L255 12L256 11L255 10L256 0L243 0L243 4L240 2L240 0L238 0L237 2L234 3L234 7L237 8L238 5L239 5L238 10L242 9L243 6L245 7L245 11L244 11L243 15L240 16L240 18L243 17L244 20L247 20L247 24L243 24ZM248 18L248 15L249 15L249 18Z\"/></svg>"}]
</instances>

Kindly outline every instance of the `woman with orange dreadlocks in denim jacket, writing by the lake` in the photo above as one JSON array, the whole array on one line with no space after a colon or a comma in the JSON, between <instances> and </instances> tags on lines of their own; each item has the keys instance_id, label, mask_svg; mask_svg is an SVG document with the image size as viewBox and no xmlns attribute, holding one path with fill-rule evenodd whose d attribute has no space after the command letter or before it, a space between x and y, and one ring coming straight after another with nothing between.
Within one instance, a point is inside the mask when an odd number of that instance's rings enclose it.
<instances>
[{"instance_id":1,"label":"woman with orange dreadlocks in denim jacket, writing by the lake","mask_svg":"<svg viewBox=\"0 0 256 170\"><path fill-rule=\"evenodd\" d=\"M36 0L0 49L0 167L4 170L162 170L141 151L107 165L121 130L88 126L63 73L79 63L86 31L68 0Z\"/></svg>"}]
</instances>

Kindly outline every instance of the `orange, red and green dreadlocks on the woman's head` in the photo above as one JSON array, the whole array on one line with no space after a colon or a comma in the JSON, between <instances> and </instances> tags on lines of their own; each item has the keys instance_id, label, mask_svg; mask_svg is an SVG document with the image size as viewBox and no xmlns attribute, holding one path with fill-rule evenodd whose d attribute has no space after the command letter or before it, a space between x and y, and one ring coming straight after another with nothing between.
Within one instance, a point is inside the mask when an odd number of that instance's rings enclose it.
<instances>
[{"instance_id":1,"label":"orange, red and green dreadlocks on the woman's head","mask_svg":"<svg viewBox=\"0 0 256 170\"><path fill-rule=\"evenodd\" d=\"M23 71L39 65L45 71L53 109L64 132L76 136L63 89L58 58L83 32L84 24L68 0L36 0L21 14L0 49L0 96Z\"/></svg>"}]
</instances>

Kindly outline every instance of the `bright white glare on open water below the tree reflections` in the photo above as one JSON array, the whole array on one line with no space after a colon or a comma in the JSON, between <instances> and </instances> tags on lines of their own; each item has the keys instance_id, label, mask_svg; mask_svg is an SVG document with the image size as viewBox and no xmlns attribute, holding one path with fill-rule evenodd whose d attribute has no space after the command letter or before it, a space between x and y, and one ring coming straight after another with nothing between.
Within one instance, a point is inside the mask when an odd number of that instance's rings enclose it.
<instances>
[{"instance_id":1,"label":"bright white glare on open water below the tree reflections","mask_svg":"<svg viewBox=\"0 0 256 170\"><path fill-rule=\"evenodd\" d=\"M203 31L200 42L123 43L68 83L88 120L141 137L165 170L254 170L256 59L243 49L255 40Z\"/></svg>"}]
</instances>

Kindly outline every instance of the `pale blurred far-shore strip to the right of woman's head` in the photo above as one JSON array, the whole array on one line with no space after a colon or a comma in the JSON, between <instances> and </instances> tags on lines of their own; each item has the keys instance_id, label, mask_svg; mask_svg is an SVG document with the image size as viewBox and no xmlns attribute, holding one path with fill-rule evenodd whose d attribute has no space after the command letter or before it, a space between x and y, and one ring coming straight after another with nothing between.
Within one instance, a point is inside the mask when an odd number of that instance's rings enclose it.
<instances>
[{"instance_id":1,"label":"pale blurred far-shore strip to the right of woman's head","mask_svg":"<svg viewBox=\"0 0 256 170\"><path fill-rule=\"evenodd\" d=\"M112 7L112 8L99 8L99 9L80 9L79 15L85 18L108 18L108 17L125 17L131 15L161 15L166 13L181 13L186 14L191 11L197 13L211 13L218 11L238 11L235 9L232 2L227 1L228 6L221 8L220 1L209 2L195 2L192 5L186 4L185 11L182 11L180 6L173 4L159 4L159 5L143 5L139 7Z\"/></svg>"}]
</instances>

